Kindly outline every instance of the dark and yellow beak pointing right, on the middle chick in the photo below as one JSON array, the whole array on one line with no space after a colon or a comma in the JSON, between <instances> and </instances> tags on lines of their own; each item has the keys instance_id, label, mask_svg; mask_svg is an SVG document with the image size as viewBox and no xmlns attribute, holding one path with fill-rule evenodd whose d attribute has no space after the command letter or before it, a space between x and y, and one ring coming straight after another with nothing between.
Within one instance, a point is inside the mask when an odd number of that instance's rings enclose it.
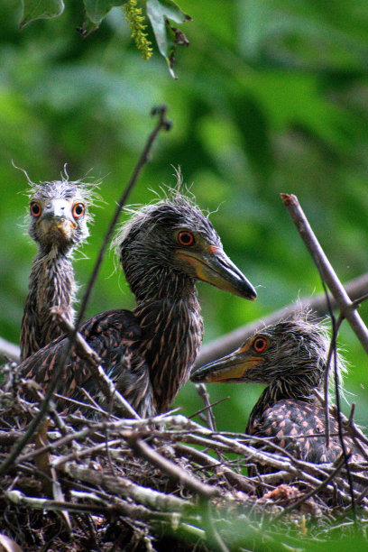
<instances>
[{"instance_id":1,"label":"dark and yellow beak pointing right, on the middle chick","mask_svg":"<svg viewBox=\"0 0 368 552\"><path fill-rule=\"evenodd\" d=\"M257 297L251 282L220 247L209 245L207 251L202 252L180 249L177 254L194 267L199 280L207 281L219 290L228 291L244 299L253 301Z\"/></svg>"}]
</instances>

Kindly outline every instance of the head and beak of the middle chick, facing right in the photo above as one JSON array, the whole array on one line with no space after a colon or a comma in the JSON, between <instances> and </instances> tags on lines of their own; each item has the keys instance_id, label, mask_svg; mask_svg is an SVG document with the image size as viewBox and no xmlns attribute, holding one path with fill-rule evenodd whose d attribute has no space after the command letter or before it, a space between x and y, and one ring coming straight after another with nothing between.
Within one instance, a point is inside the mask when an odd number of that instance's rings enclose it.
<instances>
[{"instance_id":1,"label":"head and beak of the middle chick, facing right","mask_svg":"<svg viewBox=\"0 0 368 552\"><path fill-rule=\"evenodd\" d=\"M115 245L136 296L148 275L158 286L168 277L183 285L180 276L185 275L244 299L256 298L252 284L224 252L212 223L179 192L134 212Z\"/></svg>"}]
</instances>

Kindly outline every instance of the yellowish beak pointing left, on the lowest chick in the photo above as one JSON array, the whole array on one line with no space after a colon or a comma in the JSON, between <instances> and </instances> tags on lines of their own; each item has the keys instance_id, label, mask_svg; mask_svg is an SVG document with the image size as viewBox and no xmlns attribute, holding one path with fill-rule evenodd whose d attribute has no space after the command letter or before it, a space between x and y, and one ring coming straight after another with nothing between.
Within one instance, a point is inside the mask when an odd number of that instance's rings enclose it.
<instances>
[{"instance_id":1,"label":"yellowish beak pointing left, on the lowest chick","mask_svg":"<svg viewBox=\"0 0 368 552\"><path fill-rule=\"evenodd\" d=\"M227 354L212 363L200 366L190 375L191 382L253 382L248 379L247 374L253 368L261 364L262 357L256 356L249 349L240 347L232 354Z\"/></svg>"}]
</instances>

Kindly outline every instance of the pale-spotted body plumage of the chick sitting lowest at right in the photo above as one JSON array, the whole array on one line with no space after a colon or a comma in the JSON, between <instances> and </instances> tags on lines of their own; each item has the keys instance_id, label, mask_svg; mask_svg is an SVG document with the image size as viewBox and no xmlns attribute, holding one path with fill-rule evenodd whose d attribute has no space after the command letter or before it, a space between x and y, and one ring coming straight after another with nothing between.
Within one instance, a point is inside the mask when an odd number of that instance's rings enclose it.
<instances>
[{"instance_id":1,"label":"pale-spotted body plumage of the chick sitting lowest at right","mask_svg":"<svg viewBox=\"0 0 368 552\"><path fill-rule=\"evenodd\" d=\"M263 410L247 428L247 433L257 437L273 437L272 442L275 445L314 464L334 462L341 454L337 431L336 420L330 419L332 435L327 448L325 411L319 405L303 400L279 400ZM348 451L354 450L354 444L348 437L345 437L345 444ZM271 447L267 448L271 450Z\"/></svg>"}]
</instances>

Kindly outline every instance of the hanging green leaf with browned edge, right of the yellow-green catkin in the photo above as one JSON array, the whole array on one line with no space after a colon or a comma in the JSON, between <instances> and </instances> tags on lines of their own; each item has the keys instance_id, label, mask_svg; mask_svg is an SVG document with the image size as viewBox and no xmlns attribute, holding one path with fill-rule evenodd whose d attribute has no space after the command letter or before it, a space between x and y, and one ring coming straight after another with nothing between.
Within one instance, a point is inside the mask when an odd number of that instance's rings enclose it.
<instances>
[{"instance_id":1,"label":"hanging green leaf with browned edge, right of the yellow-green catkin","mask_svg":"<svg viewBox=\"0 0 368 552\"><path fill-rule=\"evenodd\" d=\"M170 75L176 78L173 70L176 46L188 45L189 41L183 32L171 27L168 20L170 19L175 23L184 23L190 21L191 18L184 14L172 0L148 0L147 16L152 24L159 51L168 62Z\"/></svg>"}]
</instances>

